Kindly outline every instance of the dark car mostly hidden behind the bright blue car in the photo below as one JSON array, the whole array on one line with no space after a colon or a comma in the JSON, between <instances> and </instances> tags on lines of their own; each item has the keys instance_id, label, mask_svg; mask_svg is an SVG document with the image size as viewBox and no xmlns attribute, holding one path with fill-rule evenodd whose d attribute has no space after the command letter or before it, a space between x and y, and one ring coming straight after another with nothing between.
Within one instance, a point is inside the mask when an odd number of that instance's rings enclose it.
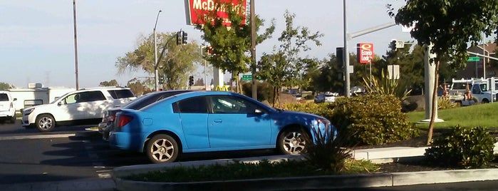
<instances>
[{"instance_id":1,"label":"dark car mostly hidden behind the bright blue car","mask_svg":"<svg viewBox=\"0 0 498 191\"><path fill-rule=\"evenodd\" d=\"M177 91L156 91L152 93L147 93L144 96L140 96L133 101L123 105L122 107L110 108L108 110L104 110L102 122L98 124L98 132L102 133L103 140L109 139L109 132L113 130L113 122L116 117L116 113L120 112L121 109L133 109L138 110L141 109L150 103L155 103L158 100L162 100L164 98L168 98L170 96L175 96L180 93L186 93L190 91L186 90L177 90Z\"/></svg>"}]
</instances>

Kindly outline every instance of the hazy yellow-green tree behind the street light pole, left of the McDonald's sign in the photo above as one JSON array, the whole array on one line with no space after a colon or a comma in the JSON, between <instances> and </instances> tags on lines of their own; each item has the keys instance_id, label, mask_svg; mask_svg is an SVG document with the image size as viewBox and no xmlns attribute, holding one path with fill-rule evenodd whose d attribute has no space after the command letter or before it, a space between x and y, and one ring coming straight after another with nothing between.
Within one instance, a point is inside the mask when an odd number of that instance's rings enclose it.
<instances>
[{"instance_id":1,"label":"hazy yellow-green tree behind the street light pole, left of the McDonald's sign","mask_svg":"<svg viewBox=\"0 0 498 191\"><path fill-rule=\"evenodd\" d=\"M178 89L185 87L187 78L195 70L194 63L202 60L199 45L192 43L178 46L172 43L176 33L156 33L157 36L157 69L159 76L165 76L162 84L165 89ZM127 69L130 71L145 71L150 75L155 73L154 64L154 38L151 35L139 39L138 48L125 53L118 58L115 66L118 73Z\"/></svg>"}]
</instances>

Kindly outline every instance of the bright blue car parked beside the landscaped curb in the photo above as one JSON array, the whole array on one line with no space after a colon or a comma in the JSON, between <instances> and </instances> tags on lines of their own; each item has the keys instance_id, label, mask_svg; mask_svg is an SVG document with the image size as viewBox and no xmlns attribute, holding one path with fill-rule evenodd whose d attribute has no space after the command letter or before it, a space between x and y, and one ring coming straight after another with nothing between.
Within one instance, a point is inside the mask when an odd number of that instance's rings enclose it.
<instances>
[{"instance_id":1,"label":"bright blue car parked beside the landscaped curb","mask_svg":"<svg viewBox=\"0 0 498 191\"><path fill-rule=\"evenodd\" d=\"M277 148L298 154L306 145L303 133L330 136L334 129L321 116L271 108L226 91L182 93L140 110L122 109L114 125L110 146L143 152L151 162L222 150Z\"/></svg>"}]
</instances>

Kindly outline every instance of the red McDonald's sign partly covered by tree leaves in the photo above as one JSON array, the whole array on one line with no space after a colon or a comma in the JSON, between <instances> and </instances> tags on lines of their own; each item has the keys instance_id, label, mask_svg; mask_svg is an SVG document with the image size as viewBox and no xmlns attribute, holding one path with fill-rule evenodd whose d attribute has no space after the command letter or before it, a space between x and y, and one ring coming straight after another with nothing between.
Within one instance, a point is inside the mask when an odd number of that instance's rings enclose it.
<instances>
[{"instance_id":1,"label":"red McDonald's sign partly covered by tree leaves","mask_svg":"<svg viewBox=\"0 0 498 191\"><path fill-rule=\"evenodd\" d=\"M240 15L244 16L242 24L246 23L247 0L243 0L242 4L239 4L239 0L185 0L185 14L187 24L204 24L204 16L206 16L209 11L213 11L215 8L219 7L217 9L217 17L224 20L223 24L225 26L231 26L228 19L228 7L224 4L232 4L232 9L239 12Z\"/></svg>"}]
</instances>

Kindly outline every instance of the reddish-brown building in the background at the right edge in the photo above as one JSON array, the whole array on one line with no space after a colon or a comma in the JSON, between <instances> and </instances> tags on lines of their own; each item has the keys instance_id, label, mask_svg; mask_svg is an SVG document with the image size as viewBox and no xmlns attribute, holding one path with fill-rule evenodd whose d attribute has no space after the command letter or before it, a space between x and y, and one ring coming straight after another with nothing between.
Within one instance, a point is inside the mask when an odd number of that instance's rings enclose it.
<instances>
[{"instance_id":1,"label":"reddish-brown building in the background at the right edge","mask_svg":"<svg viewBox=\"0 0 498 191\"><path fill-rule=\"evenodd\" d=\"M484 48L482 48L482 44L479 44L477 46L471 46L470 48L467 48L467 51L472 52L472 53L479 53L479 54L484 54L485 56L492 56L494 57L495 51L497 49L497 44L496 43L484 43ZM475 57L475 55L470 54L470 56ZM498 73L498 68L497 67L492 67L489 62L491 59L489 58L483 58L482 56L479 56L479 61L471 61L467 62L467 66L462 71L459 71L457 73L458 78L465 78L465 79L470 79L470 78L490 78L497 76ZM485 70L484 70L485 68ZM486 75L484 76L484 72Z\"/></svg>"}]
</instances>

